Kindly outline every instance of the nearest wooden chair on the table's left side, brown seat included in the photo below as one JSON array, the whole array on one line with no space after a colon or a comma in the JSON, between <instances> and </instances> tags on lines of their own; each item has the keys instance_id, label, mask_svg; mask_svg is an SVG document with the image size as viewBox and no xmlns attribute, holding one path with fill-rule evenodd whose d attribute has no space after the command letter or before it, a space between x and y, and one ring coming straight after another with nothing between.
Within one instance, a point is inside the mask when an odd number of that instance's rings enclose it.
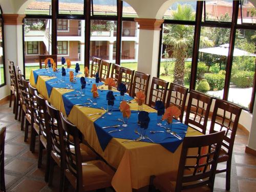
<instances>
[{"instance_id":1,"label":"nearest wooden chair on the table's left side, brown seat included","mask_svg":"<svg viewBox=\"0 0 256 192\"><path fill-rule=\"evenodd\" d=\"M76 126L63 117L62 113L60 113L60 119L65 132L63 134L63 143L68 168L65 175L72 186L79 192L110 187L114 171L100 160L82 163L79 139L80 132ZM74 146L75 153L71 150L71 146Z\"/></svg>"}]
</instances>

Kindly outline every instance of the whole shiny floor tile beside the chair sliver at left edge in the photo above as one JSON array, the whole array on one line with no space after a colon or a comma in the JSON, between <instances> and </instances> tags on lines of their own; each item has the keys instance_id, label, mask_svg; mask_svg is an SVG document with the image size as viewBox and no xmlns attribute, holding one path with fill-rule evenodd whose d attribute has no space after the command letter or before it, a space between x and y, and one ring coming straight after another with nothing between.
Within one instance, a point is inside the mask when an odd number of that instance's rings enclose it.
<instances>
[{"instance_id":1,"label":"whole shiny floor tile beside the chair sliver at left edge","mask_svg":"<svg viewBox=\"0 0 256 192\"><path fill-rule=\"evenodd\" d=\"M26 160L15 159L5 166L5 170L25 174L29 172L34 163Z\"/></svg>"}]
</instances>

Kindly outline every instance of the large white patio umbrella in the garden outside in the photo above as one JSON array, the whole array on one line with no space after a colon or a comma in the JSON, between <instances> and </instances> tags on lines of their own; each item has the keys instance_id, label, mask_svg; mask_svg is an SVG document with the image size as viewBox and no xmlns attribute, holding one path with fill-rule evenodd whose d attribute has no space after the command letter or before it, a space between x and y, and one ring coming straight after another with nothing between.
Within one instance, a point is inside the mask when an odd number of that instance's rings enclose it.
<instances>
[{"instance_id":1,"label":"large white patio umbrella in the garden outside","mask_svg":"<svg viewBox=\"0 0 256 192\"><path fill-rule=\"evenodd\" d=\"M229 48L229 44L224 44L224 45L221 45L218 47L199 49L199 51L203 52L203 53L228 56L228 48ZM249 53L247 51L243 51L243 50L234 48L233 56L234 57L235 56L253 56L253 57L255 57L256 54Z\"/></svg>"}]
</instances>

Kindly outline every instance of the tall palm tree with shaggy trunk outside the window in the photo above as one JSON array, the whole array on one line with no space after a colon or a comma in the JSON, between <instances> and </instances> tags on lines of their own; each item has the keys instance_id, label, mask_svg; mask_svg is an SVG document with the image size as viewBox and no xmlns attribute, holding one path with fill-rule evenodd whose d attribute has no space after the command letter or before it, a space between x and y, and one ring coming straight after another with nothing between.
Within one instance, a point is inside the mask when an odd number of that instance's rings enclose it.
<instances>
[{"instance_id":1,"label":"tall palm tree with shaggy trunk outside the window","mask_svg":"<svg viewBox=\"0 0 256 192\"><path fill-rule=\"evenodd\" d=\"M195 13L189 5L178 5L173 11L174 20L195 20ZM170 47L172 57L175 59L174 82L184 86L185 59L188 51L193 47L194 26L190 25L165 25L163 34L164 44ZM213 42L207 37L200 37L200 44L212 46Z\"/></svg>"}]
</instances>

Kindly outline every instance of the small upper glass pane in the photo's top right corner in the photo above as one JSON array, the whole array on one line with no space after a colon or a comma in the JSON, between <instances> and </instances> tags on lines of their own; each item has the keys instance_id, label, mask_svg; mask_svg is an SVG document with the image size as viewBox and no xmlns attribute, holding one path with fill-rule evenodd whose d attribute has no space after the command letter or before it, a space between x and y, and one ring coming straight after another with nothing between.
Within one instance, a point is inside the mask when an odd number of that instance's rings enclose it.
<instances>
[{"instance_id":1,"label":"small upper glass pane in the photo's top right corner","mask_svg":"<svg viewBox=\"0 0 256 192\"><path fill-rule=\"evenodd\" d=\"M242 18L241 18L241 6L239 6L238 12L238 24L247 23L255 24L256 23L256 9L251 2L248 0L242 1Z\"/></svg>"}]
</instances>

